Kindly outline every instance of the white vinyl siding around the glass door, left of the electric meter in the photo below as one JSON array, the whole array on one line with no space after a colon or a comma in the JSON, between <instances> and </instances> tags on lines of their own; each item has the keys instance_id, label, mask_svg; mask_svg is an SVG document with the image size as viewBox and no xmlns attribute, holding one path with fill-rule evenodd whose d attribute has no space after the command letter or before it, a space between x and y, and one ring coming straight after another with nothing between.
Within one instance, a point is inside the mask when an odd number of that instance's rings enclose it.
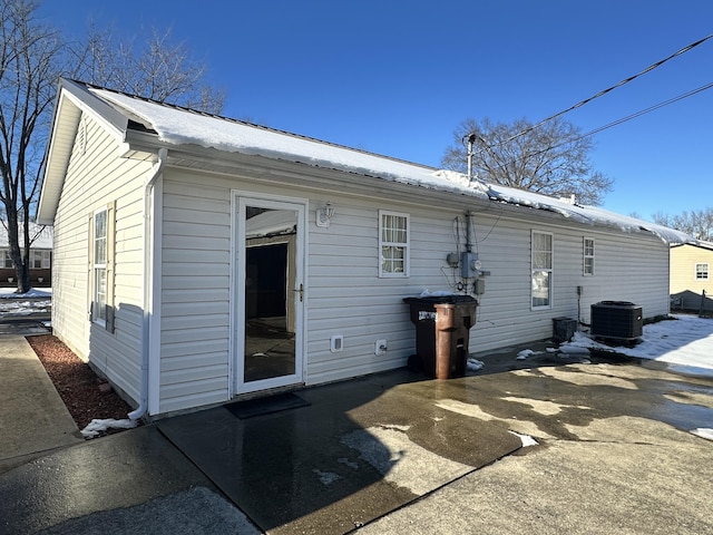
<instances>
[{"instance_id":1,"label":"white vinyl siding around the glass door, left of the electric meter","mask_svg":"<svg viewBox=\"0 0 713 535\"><path fill-rule=\"evenodd\" d=\"M229 177L169 169L163 183L160 412L228 399L233 380L231 350L231 191L293 198L300 189L258 186ZM338 216L318 227L310 210L309 265L305 282L305 382L345 379L403 366L413 350L413 325L402 298L432 282L429 269L419 275L379 278L378 202L331 197ZM310 200L319 206L324 200ZM450 222L428 218L410 224L427 240L411 249L413 259L439 264L433 243L442 241ZM433 240L433 243L431 243ZM440 276L440 275L439 275ZM344 281L349 280L349 284ZM344 337L344 349L330 351L330 338ZM387 339L387 354L374 354L374 341Z\"/></svg>"}]
</instances>

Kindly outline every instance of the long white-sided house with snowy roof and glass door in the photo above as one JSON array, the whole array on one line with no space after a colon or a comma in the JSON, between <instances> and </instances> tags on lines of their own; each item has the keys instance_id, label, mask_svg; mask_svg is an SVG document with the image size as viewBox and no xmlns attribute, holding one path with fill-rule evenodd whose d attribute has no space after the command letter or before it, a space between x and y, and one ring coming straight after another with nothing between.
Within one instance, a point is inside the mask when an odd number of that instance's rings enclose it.
<instances>
[{"instance_id":1,"label":"long white-sided house with snowy roof and glass door","mask_svg":"<svg viewBox=\"0 0 713 535\"><path fill-rule=\"evenodd\" d=\"M402 299L426 290L477 293L471 351L602 300L666 314L668 244L688 240L68 80L48 150L53 332L133 417L402 367Z\"/></svg>"}]
</instances>

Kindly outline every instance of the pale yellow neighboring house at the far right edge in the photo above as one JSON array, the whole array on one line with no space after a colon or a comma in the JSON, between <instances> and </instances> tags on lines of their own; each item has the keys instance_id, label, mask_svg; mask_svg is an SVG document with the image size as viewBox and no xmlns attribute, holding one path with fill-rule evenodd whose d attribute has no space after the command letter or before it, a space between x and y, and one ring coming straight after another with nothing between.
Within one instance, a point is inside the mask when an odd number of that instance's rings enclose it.
<instances>
[{"instance_id":1,"label":"pale yellow neighboring house at the far right edge","mask_svg":"<svg viewBox=\"0 0 713 535\"><path fill-rule=\"evenodd\" d=\"M671 305L695 312L713 311L713 243L699 241L671 246Z\"/></svg>"}]
</instances>

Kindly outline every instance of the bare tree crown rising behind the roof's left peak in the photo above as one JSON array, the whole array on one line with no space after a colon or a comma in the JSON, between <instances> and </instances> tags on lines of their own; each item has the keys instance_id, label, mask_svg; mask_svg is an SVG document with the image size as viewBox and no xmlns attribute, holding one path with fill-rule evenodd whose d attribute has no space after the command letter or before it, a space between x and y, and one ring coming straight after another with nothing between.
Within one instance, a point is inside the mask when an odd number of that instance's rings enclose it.
<instances>
[{"instance_id":1,"label":"bare tree crown rising behind the roof's left peak","mask_svg":"<svg viewBox=\"0 0 713 535\"><path fill-rule=\"evenodd\" d=\"M174 43L170 29L153 29L146 40L120 40L111 27L92 25L72 49L76 76L88 84L209 114L223 109L225 91L204 82L206 65L193 59L184 42Z\"/></svg>"}]
</instances>

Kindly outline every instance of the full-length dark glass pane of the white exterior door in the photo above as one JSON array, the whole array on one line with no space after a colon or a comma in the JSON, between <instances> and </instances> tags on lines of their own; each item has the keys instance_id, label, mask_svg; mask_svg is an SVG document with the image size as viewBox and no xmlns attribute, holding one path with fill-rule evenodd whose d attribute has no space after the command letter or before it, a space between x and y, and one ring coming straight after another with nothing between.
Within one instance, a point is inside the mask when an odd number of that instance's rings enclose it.
<instances>
[{"instance_id":1,"label":"full-length dark glass pane of the white exterior door","mask_svg":"<svg viewBox=\"0 0 713 535\"><path fill-rule=\"evenodd\" d=\"M245 211L245 382L295 373L297 213Z\"/></svg>"}]
</instances>

